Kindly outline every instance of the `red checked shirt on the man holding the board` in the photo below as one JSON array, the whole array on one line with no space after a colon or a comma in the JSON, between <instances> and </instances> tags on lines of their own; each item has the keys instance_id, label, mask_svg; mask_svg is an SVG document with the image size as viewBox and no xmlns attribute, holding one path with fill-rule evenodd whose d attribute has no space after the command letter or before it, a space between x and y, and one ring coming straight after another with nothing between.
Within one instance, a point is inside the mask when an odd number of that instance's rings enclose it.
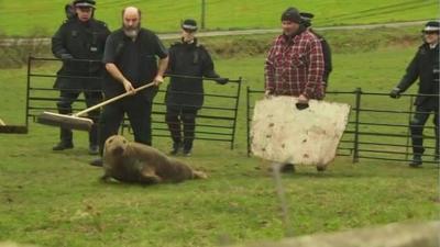
<instances>
[{"instance_id":1,"label":"red checked shirt on the man holding the board","mask_svg":"<svg viewBox=\"0 0 440 247\"><path fill-rule=\"evenodd\" d=\"M266 64L265 90L276 96L323 98L323 55L320 41L309 31L287 40L279 35Z\"/></svg>"}]
</instances>

